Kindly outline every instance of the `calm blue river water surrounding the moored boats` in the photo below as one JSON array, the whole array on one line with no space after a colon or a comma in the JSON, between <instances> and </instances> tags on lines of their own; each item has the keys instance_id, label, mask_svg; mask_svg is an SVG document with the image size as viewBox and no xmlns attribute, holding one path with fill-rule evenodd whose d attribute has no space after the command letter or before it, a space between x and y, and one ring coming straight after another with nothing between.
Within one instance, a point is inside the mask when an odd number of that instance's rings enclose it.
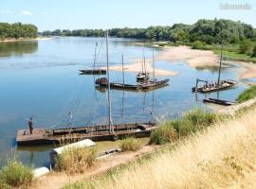
<instances>
[{"instance_id":1,"label":"calm blue river water surrounding the moored boats","mask_svg":"<svg viewBox=\"0 0 256 189\"><path fill-rule=\"evenodd\" d=\"M73 112L75 126L104 124L107 121L106 93L94 87L97 76L80 76L79 69L92 65L95 43L101 53L97 64L105 65L104 39L57 38L26 43L0 43L0 165L16 149L18 129L27 129L27 118L34 116L35 127L64 128L68 112ZM135 45L134 40L110 39L110 64L120 64L152 56L152 48ZM160 50L157 50L160 51ZM158 52L156 52L158 53ZM176 118L195 106L205 106L205 94L191 93L197 77L216 79L217 70L191 68L186 62L156 61L156 68L172 70L169 86L155 92L132 93L111 91L115 123L166 120ZM223 78L238 80L238 68L229 66ZM111 72L112 81L121 81L121 73ZM136 83L135 73L125 73L127 83ZM164 78L164 77L158 77ZM234 100L245 89L242 83L229 91L208 94L211 97ZM153 112L153 113L151 113ZM116 146L106 143L106 146ZM114 144L114 145L113 145ZM102 144L98 144L103 148ZM19 147L17 153L25 163L36 166L48 163L52 146Z\"/></svg>"}]
</instances>

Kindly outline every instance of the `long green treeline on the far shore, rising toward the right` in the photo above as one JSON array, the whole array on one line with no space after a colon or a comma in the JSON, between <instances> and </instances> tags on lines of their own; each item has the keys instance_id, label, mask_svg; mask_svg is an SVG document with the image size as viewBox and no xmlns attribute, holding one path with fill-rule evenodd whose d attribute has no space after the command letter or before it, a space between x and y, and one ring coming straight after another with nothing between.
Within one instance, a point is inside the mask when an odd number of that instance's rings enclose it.
<instances>
[{"instance_id":1,"label":"long green treeline on the far shore, rising toward the right","mask_svg":"<svg viewBox=\"0 0 256 189\"><path fill-rule=\"evenodd\" d=\"M56 29L44 31L43 36L81 36L103 37L102 29ZM207 44L220 43L222 37L228 43L238 43L244 39L256 40L256 29L250 25L231 20L198 20L193 25L174 24L174 26L149 26L147 28L112 28L109 35L119 38L135 38L153 41L191 43L200 41Z\"/></svg>"}]
</instances>

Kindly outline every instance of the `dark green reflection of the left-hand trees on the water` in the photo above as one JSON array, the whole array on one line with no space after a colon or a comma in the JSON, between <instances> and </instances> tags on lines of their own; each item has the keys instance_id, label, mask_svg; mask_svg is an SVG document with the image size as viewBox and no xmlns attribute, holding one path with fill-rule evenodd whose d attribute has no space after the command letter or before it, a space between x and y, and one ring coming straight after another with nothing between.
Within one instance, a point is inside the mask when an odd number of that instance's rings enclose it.
<instances>
[{"instance_id":1,"label":"dark green reflection of the left-hand trees on the water","mask_svg":"<svg viewBox=\"0 0 256 189\"><path fill-rule=\"evenodd\" d=\"M37 50L38 42L0 43L0 57L23 56Z\"/></svg>"}]
</instances>

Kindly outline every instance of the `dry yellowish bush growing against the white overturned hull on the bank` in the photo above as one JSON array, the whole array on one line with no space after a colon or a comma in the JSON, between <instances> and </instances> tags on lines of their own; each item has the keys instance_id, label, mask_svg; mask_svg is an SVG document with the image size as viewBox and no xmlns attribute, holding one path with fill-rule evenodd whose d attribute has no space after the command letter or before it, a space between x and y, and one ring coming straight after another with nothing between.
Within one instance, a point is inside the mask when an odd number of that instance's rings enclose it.
<instances>
[{"instance_id":1,"label":"dry yellowish bush growing against the white overturned hull on the bank","mask_svg":"<svg viewBox=\"0 0 256 189\"><path fill-rule=\"evenodd\" d=\"M96 160L95 147L68 147L58 158L56 168L67 173L82 173Z\"/></svg>"}]
</instances>

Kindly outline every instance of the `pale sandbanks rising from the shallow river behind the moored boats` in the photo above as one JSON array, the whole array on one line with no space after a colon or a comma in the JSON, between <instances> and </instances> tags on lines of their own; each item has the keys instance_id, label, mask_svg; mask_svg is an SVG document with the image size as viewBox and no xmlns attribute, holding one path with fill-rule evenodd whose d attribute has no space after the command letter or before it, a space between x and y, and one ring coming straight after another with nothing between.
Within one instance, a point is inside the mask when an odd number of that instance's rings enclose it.
<instances>
[{"instance_id":1,"label":"pale sandbanks rising from the shallow river behind the moored boats","mask_svg":"<svg viewBox=\"0 0 256 189\"><path fill-rule=\"evenodd\" d=\"M168 60L179 61L183 60L187 62L191 67L212 67L219 66L219 57L210 50L197 50L192 49L189 46L168 46L164 47L163 51L155 56L155 60ZM125 65L125 72L139 72L141 71L141 60L131 60L134 63ZM239 75L240 78L256 77L256 64L231 61L236 64L242 65ZM157 63L155 63L157 67ZM112 66L111 70L121 71L121 66ZM146 69L149 72L153 72L152 60L146 60ZM179 73L175 73L172 70L155 69L155 76L176 76Z\"/></svg>"}]
</instances>

